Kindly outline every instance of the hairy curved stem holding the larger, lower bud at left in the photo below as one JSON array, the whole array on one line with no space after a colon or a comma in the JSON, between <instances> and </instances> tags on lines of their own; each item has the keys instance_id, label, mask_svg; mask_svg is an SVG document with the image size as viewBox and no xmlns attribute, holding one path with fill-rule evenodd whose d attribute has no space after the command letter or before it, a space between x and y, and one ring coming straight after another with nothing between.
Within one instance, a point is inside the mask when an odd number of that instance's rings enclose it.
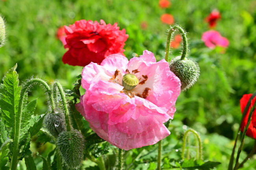
<instances>
[{"instance_id":1,"label":"hairy curved stem holding the larger, lower bud at left","mask_svg":"<svg viewBox=\"0 0 256 170\"><path fill-rule=\"evenodd\" d=\"M56 88L58 88L60 96L61 96L61 100L62 100L62 104L64 106L64 113L65 113L65 121L66 121L66 126L67 126L67 131L71 130L71 125L70 125L70 120L69 120L69 109L67 107L67 101L65 98L65 93L61 87L61 84L59 82L55 82L53 85L53 91L54 93L56 93Z\"/></svg>"}]
</instances>

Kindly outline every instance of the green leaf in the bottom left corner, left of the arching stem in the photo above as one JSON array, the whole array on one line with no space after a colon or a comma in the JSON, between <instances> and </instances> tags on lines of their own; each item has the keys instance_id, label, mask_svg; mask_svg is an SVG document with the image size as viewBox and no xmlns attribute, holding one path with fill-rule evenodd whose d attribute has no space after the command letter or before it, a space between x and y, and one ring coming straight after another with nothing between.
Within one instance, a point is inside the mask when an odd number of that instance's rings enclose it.
<instances>
[{"instance_id":1,"label":"green leaf in the bottom left corner, left of the arching stem","mask_svg":"<svg viewBox=\"0 0 256 170\"><path fill-rule=\"evenodd\" d=\"M1 148L0 148L0 170L6 170L9 169L9 167L6 166L6 163L8 162L9 158L7 157L9 152L9 144L12 142L11 139L6 140Z\"/></svg>"}]
</instances>

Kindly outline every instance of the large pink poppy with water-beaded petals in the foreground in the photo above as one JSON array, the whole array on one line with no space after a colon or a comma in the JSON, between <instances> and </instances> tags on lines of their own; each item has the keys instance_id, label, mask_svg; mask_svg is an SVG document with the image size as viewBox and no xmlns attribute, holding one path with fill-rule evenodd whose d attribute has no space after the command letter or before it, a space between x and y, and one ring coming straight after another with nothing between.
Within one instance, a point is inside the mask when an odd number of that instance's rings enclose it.
<instances>
[{"instance_id":1,"label":"large pink poppy with water-beaded petals in the foreground","mask_svg":"<svg viewBox=\"0 0 256 170\"><path fill-rule=\"evenodd\" d=\"M127 75L137 80L134 89L124 88ZM173 119L180 86L169 64L164 59L156 62L152 52L145 50L130 61L112 54L100 65L90 63L83 68L86 92L76 109L110 144L124 150L140 148L170 134L163 123Z\"/></svg>"}]
</instances>

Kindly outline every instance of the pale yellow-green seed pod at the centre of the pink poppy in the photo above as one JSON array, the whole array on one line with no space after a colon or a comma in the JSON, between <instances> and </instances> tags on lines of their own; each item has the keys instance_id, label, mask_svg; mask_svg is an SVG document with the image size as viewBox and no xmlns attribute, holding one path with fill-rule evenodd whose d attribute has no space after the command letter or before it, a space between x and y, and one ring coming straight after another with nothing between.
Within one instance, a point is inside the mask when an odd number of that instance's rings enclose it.
<instances>
[{"instance_id":1,"label":"pale yellow-green seed pod at the centre of the pink poppy","mask_svg":"<svg viewBox=\"0 0 256 170\"><path fill-rule=\"evenodd\" d=\"M139 84L139 79L134 74L124 74L122 77L122 86L126 90L132 90Z\"/></svg>"}]
</instances>

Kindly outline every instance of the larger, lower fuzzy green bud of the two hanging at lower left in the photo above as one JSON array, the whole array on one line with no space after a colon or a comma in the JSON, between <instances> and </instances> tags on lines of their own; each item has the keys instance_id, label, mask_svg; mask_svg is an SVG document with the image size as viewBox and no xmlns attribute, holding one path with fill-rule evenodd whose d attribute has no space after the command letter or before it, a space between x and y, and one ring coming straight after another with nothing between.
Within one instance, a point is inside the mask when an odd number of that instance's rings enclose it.
<instances>
[{"instance_id":1,"label":"larger, lower fuzzy green bud of the two hanging at lower left","mask_svg":"<svg viewBox=\"0 0 256 170\"><path fill-rule=\"evenodd\" d=\"M79 168L83 160L84 139L78 130L61 132L56 146L59 148L63 162L69 168Z\"/></svg>"}]
</instances>

